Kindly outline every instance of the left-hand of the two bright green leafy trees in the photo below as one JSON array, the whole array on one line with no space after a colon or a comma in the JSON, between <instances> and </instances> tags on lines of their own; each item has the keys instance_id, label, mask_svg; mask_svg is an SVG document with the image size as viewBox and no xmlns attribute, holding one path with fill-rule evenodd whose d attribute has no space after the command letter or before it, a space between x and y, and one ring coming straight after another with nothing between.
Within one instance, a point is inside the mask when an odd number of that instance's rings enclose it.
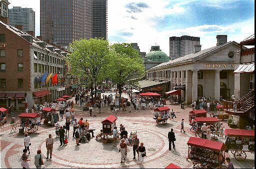
<instances>
[{"instance_id":1,"label":"left-hand of the two bright green leafy trees","mask_svg":"<svg viewBox=\"0 0 256 169\"><path fill-rule=\"evenodd\" d=\"M71 54L65 60L71 65L71 72L87 79L91 97L93 98L93 86L96 97L97 83L104 78L103 70L111 53L108 41L103 38L80 39L74 40L69 46Z\"/></svg>"}]
</instances>

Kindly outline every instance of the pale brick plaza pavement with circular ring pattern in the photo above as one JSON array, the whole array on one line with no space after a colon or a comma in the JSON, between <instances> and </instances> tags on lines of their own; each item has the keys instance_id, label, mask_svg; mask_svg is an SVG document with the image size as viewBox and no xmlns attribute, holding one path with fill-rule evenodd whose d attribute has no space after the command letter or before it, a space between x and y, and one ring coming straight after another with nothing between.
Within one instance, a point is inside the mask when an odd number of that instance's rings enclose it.
<instances>
[{"instance_id":1,"label":"pale brick plaza pavement with circular ring pattern","mask_svg":"<svg viewBox=\"0 0 256 169\"><path fill-rule=\"evenodd\" d=\"M100 131L103 120L106 116L112 114L117 116L116 125L124 124L128 133L136 131L140 142L144 142L147 156L144 158L143 165L138 164L137 160L133 160L132 147L128 147L127 158L124 163L120 163L120 153L118 146L112 146L112 143L103 143L102 141L95 140L93 137L88 143L75 145L75 140L72 138L72 127L67 137L68 144L59 146L58 139L55 138L55 130L53 127L39 127L37 132L29 134L31 137L31 159L30 167L34 167L34 155L38 148L41 148L44 167L45 168L110 168L110 167L125 167L125 168L164 168L169 163L174 163L182 168L190 168L192 164L186 161L187 145L186 142L190 136L193 135L189 131L188 112L191 108L186 107L181 109L180 105L167 106L174 108L176 116L174 120L167 120L167 124L156 124L152 119L153 110L134 110L130 108L131 112L118 110L117 112L111 111L107 106L103 108L102 113L94 112L96 117L90 117L88 111L82 111L81 108L75 105L76 118L87 118L90 122L90 127L95 128L96 135ZM185 133L180 132L180 121L184 118ZM60 121L61 124L64 121ZM226 125L226 123L225 123ZM226 125L227 127L227 125ZM170 128L174 129L176 136L176 149L168 150L167 133ZM4 127L0 132L0 166L5 168L20 168L20 156L23 149L23 135L9 133L10 128ZM51 160L45 160L46 148L45 139L48 133L53 135L55 143L53 145L53 155ZM229 156L229 154L226 154ZM247 158L240 162L230 155L231 161L235 168L252 168L254 166L254 154L247 153ZM136 156L137 159L137 156Z\"/></svg>"}]
</instances>

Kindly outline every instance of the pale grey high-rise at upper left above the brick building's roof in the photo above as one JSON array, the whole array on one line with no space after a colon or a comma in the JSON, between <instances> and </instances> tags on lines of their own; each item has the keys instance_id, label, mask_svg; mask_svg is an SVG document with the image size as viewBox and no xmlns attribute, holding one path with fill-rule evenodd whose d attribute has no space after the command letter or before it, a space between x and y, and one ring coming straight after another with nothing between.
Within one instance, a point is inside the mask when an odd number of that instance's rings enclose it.
<instances>
[{"instance_id":1,"label":"pale grey high-rise at upper left above the brick building's roof","mask_svg":"<svg viewBox=\"0 0 256 169\"><path fill-rule=\"evenodd\" d=\"M34 11L32 8L13 6L12 9L8 9L8 13L10 25L22 25L24 31L35 31Z\"/></svg>"}]
</instances>

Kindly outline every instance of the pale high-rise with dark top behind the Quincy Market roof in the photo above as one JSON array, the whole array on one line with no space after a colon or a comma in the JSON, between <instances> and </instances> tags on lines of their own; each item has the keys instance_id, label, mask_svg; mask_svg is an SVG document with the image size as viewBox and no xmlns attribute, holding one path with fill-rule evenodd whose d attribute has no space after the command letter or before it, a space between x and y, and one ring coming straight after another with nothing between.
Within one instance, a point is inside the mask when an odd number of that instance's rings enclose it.
<instances>
[{"instance_id":1,"label":"pale high-rise with dark top behind the Quincy Market roof","mask_svg":"<svg viewBox=\"0 0 256 169\"><path fill-rule=\"evenodd\" d=\"M200 37L183 35L180 37L169 37L169 55L170 59L194 53L194 45L200 44Z\"/></svg>"}]
</instances>

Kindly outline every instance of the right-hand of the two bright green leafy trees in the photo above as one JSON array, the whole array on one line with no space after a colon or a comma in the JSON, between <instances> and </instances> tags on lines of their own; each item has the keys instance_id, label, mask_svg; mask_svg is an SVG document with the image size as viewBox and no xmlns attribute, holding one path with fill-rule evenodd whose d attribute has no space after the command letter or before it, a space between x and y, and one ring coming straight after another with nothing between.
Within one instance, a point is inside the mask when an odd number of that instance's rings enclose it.
<instances>
[{"instance_id":1,"label":"right-hand of the two bright green leafy trees","mask_svg":"<svg viewBox=\"0 0 256 169\"><path fill-rule=\"evenodd\" d=\"M112 82L117 84L119 91L119 109L122 87L126 84L137 83L131 80L143 76L143 59L137 50L133 49L129 43L115 43L111 45L112 58L109 62L108 76Z\"/></svg>"}]
</instances>

